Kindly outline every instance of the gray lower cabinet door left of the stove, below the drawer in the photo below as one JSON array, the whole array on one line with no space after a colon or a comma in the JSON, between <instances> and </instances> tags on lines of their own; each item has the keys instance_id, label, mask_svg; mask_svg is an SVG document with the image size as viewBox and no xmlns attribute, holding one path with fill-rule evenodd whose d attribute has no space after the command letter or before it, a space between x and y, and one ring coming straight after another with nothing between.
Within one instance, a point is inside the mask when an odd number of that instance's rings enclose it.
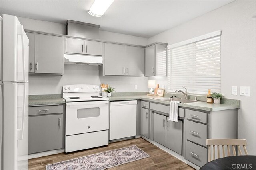
<instances>
[{"instance_id":1,"label":"gray lower cabinet door left of the stove, below the drawer","mask_svg":"<svg viewBox=\"0 0 256 170\"><path fill-rule=\"evenodd\" d=\"M63 115L30 116L28 153L63 148Z\"/></svg>"}]
</instances>

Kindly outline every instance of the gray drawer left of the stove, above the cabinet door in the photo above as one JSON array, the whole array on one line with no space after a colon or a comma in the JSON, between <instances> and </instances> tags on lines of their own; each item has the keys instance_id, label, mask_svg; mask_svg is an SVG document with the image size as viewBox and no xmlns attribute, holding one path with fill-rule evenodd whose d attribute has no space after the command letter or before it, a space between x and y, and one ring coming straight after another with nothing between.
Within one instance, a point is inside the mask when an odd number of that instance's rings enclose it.
<instances>
[{"instance_id":1,"label":"gray drawer left of the stove, above the cabinet door","mask_svg":"<svg viewBox=\"0 0 256 170\"><path fill-rule=\"evenodd\" d=\"M63 113L63 105L28 107L28 115Z\"/></svg>"}]
</instances>

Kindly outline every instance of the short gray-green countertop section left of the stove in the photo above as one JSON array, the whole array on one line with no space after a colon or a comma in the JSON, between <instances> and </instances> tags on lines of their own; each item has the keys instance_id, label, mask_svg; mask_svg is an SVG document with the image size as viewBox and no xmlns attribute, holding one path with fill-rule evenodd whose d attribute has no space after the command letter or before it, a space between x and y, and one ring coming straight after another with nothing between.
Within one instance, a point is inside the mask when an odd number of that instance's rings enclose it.
<instances>
[{"instance_id":1,"label":"short gray-green countertop section left of the stove","mask_svg":"<svg viewBox=\"0 0 256 170\"><path fill-rule=\"evenodd\" d=\"M50 95L30 95L28 98L28 105L47 105L47 104L64 104L66 101L61 94Z\"/></svg>"}]
</instances>

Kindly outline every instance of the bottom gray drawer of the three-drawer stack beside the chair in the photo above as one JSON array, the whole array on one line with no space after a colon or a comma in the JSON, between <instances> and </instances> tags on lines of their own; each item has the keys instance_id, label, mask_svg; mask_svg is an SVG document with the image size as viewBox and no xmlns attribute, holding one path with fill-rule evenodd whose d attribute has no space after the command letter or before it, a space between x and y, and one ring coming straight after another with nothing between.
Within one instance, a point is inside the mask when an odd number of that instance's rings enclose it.
<instances>
[{"instance_id":1,"label":"bottom gray drawer of the three-drawer stack beside the chair","mask_svg":"<svg viewBox=\"0 0 256 170\"><path fill-rule=\"evenodd\" d=\"M207 163L207 149L186 141L186 160L202 167Z\"/></svg>"}]
</instances>

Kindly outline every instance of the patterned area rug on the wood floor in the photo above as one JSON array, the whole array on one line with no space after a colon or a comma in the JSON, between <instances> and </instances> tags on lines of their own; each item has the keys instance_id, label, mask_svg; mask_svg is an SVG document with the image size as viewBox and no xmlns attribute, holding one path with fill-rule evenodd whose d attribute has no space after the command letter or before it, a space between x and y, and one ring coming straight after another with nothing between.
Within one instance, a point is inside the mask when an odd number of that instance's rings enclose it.
<instances>
[{"instance_id":1,"label":"patterned area rug on the wood floor","mask_svg":"<svg viewBox=\"0 0 256 170\"><path fill-rule=\"evenodd\" d=\"M104 170L150 157L136 145L46 165L46 170Z\"/></svg>"}]
</instances>

